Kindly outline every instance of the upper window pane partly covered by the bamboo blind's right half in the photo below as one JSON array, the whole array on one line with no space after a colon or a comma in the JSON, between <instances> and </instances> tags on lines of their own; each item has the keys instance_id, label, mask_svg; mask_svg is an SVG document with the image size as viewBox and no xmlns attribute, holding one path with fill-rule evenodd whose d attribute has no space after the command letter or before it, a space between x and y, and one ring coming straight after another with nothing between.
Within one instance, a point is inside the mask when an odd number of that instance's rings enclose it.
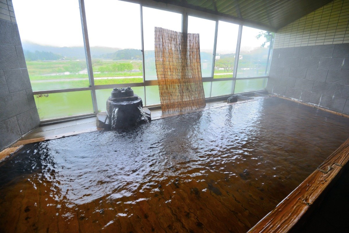
<instances>
[{"instance_id":1,"label":"upper window pane partly covered by the bamboo blind's right half","mask_svg":"<svg viewBox=\"0 0 349 233\"><path fill-rule=\"evenodd\" d=\"M188 16L188 32L200 34L200 57L202 77L212 77L213 46L216 22Z\"/></svg>"}]
</instances>

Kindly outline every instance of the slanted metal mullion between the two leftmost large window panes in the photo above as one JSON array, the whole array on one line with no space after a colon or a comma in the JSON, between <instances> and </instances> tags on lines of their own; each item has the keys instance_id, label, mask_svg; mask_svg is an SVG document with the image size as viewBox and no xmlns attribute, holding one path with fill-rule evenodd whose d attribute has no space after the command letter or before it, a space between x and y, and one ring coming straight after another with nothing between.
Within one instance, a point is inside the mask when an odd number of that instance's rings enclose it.
<instances>
[{"instance_id":1,"label":"slanted metal mullion between the two leftmost large window panes","mask_svg":"<svg viewBox=\"0 0 349 233\"><path fill-rule=\"evenodd\" d=\"M91 97L92 97L92 105L94 111L98 112L98 106L97 106L97 98L96 98L96 90L95 90L95 80L93 77L93 70L92 70L92 60L91 60L91 51L90 51L90 43L88 39L88 31L87 31L87 22L86 22L86 12L85 12L85 2L84 0L79 0L79 6L80 6L80 18L81 18L81 27L82 27L82 35L84 40L84 48L85 48L85 55L87 60L87 73L88 78L91 85Z\"/></svg>"}]
</instances>

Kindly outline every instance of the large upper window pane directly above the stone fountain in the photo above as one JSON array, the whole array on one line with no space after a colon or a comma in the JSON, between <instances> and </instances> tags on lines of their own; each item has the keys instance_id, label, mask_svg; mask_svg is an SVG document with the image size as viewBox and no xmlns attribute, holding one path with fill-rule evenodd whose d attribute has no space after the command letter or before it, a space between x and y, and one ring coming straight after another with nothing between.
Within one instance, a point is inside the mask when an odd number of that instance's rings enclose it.
<instances>
[{"instance_id":1,"label":"large upper window pane directly above the stone fountain","mask_svg":"<svg viewBox=\"0 0 349 233\"><path fill-rule=\"evenodd\" d=\"M143 82L140 6L85 0L95 85Z\"/></svg>"}]
</instances>

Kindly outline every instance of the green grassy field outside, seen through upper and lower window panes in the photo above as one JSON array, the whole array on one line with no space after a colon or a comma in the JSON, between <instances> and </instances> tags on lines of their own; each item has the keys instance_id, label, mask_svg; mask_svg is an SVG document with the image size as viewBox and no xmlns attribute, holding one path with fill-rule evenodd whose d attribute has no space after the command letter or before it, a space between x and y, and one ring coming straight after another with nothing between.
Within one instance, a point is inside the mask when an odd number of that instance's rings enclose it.
<instances>
[{"instance_id":1,"label":"green grassy field outside, seen through upper and lower window panes","mask_svg":"<svg viewBox=\"0 0 349 233\"><path fill-rule=\"evenodd\" d=\"M119 64L132 64L133 70L117 71ZM92 61L95 78L113 77L109 79L95 79L95 85L123 84L143 82L142 63L139 61ZM128 65L129 66L129 65ZM88 87L88 75L85 61L27 61L27 67L33 90L53 90ZM102 67L102 69L101 69ZM113 68L114 67L114 68ZM129 66L130 68L131 66ZM99 72L99 70L108 70ZM84 73L85 71L85 73ZM79 73L80 72L80 73ZM254 71L255 72L255 71ZM224 73L219 70L216 73ZM247 72L241 73L246 75ZM248 72L250 73L250 72ZM133 76L133 77L132 77ZM134 78L136 76L136 78ZM140 76L140 77L137 77ZM132 78L118 78L132 77ZM232 74L214 75L214 78L231 78ZM211 90L212 85L212 90ZM237 80L235 93L260 90L265 88L266 79ZM231 93L232 81L204 82L205 97L226 95ZM135 94L139 95L143 104L159 104L158 86L133 87ZM211 91L210 91L211 90ZM106 99L110 96L111 89L96 90L98 111L105 111ZM145 103L146 101L146 103ZM51 119L65 116L74 116L93 112L90 91L67 92L49 94L48 97L37 98L35 102L40 119ZM59 104L57 104L59 103Z\"/></svg>"}]
</instances>

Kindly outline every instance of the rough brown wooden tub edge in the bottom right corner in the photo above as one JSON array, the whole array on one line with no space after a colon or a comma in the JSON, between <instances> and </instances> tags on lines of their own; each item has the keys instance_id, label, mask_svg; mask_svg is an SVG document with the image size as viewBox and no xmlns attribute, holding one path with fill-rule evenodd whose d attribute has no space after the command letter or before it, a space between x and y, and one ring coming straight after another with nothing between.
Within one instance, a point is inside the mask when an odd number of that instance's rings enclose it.
<instances>
[{"instance_id":1,"label":"rough brown wooden tub edge in the bottom right corner","mask_svg":"<svg viewBox=\"0 0 349 233\"><path fill-rule=\"evenodd\" d=\"M247 233L288 232L349 160L349 139Z\"/></svg>"}]
</instances>

